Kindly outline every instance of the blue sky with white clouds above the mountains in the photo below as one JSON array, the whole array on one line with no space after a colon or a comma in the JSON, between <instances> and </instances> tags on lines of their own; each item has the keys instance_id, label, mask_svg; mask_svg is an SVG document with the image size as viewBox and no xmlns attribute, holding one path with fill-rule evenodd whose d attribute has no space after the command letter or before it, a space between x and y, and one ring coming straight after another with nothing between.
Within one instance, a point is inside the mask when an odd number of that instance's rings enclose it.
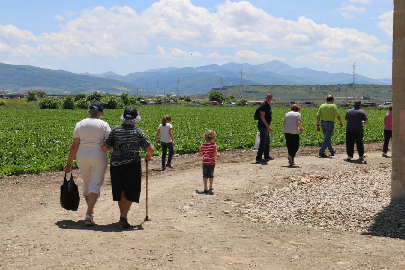
<instances>
[{"instance_id":1,"label":"blue sky with white clouds above the mountains","mask_svg":"<svg viewBox=\"0 0 405 270\"><path fill-rule=\"evenodd\" d=\"M0 62L99 74L228 62L391 78L392 1L10 1Z\"/></svg>"}]
</instances>

